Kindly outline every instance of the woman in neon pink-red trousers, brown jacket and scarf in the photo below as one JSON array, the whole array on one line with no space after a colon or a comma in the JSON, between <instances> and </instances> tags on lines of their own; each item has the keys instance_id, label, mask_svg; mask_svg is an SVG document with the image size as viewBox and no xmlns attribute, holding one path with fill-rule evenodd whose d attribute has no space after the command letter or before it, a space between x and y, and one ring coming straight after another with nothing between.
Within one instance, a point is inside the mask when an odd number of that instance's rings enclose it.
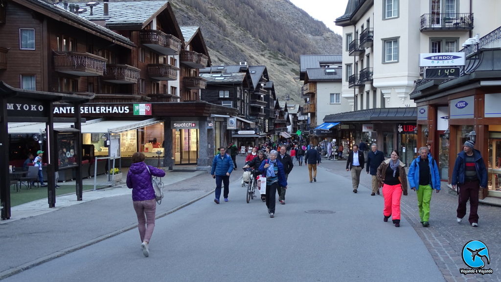
<instances>
[{"instance_id":1,"label":"woman in neon pink-red trousers, brown jacket and scarf","mask_svg":"<svg viewBox=\"0 0 501 282\"><path fill-rule=\"evenodd\" d=\"M384 222L392 217L395 227L400 227L400 198L402 191L407 196L407 175L405 164L398 159L398 152L391 151L391 158L377 168L377 179L383 184Z\"/></svg>"}]
</instances>

